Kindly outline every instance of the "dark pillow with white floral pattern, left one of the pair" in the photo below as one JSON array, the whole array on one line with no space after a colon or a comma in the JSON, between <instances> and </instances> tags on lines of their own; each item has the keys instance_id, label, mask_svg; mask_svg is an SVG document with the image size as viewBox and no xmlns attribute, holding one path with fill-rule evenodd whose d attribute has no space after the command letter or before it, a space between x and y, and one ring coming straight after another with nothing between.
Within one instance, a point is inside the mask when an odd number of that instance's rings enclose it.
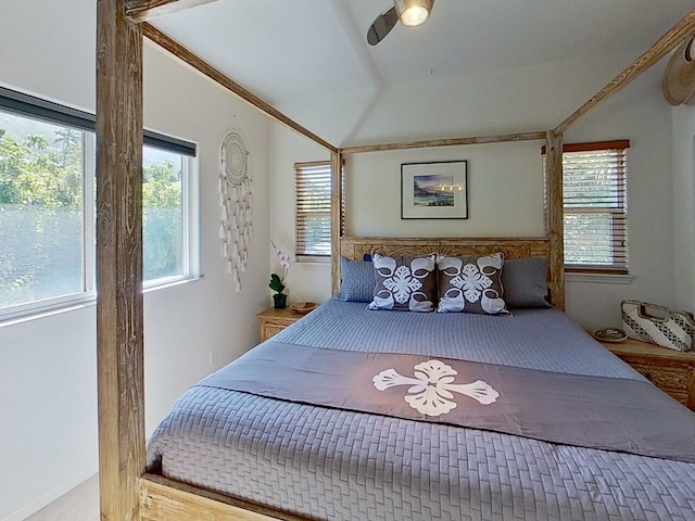
<instances>
[{"instance_id":1,"label":"dark pillow with white floral pattern, left one of the pair","mask_svg":"<svg viewBox=\"0 0 695 521\"><path fill-rule=\"evenodd\" d=\"M367 309L432 312L437 302L435 255L388 257L374 253L376 287Z\"/></svg>"}]
</instances>

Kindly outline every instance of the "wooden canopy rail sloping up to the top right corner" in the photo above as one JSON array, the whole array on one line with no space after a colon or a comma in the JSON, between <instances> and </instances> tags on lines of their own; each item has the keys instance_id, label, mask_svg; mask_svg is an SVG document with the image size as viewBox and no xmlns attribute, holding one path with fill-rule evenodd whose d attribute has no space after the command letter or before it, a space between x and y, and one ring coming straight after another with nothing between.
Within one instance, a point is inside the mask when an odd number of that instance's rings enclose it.
<instances>
[{"instance_id":1,"label":"wooden canopy rail sloping up to the top right corner","mask_svg":"<svg viewBox=\"0 0 695 521\"><path fill-rule=\"evenodd\" d=\"M637 58L632 65L616 76L606 87L596 92L586 103L577 109L567 119L560 123L553 131L556 135L565 134L567 128L590 110L596 106L611 94L626 87L639 75L647 71L669 52L675 49L685 38L695 34L695 9L681 18L671 29L659 38L644 54Z\"/></svg>"}]
</instances>

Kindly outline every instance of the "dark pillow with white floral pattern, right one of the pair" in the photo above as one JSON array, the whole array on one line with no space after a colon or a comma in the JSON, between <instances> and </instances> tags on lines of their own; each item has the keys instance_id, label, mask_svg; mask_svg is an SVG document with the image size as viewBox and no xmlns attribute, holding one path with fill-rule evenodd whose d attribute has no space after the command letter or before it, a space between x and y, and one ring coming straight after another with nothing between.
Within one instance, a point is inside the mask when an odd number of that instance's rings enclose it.
<instances>
[{"instance_id":1,"label":"dark pillow with white floral pattern, right one of the pair","mask_svg":"<svg viewBox=\"0 0 695 521\"><path fill-rule=\"evenodd\" d=\"M504 255L479 257L437 255L439 306L437 313L508 315L502 297Z\"/></svg>"}]
</instances>

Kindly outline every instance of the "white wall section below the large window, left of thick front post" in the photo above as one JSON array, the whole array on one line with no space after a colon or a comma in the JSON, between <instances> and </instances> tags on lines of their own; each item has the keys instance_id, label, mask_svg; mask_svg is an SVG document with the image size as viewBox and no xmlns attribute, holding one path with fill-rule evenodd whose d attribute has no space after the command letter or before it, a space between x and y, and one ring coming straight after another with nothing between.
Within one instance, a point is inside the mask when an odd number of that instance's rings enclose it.
<instances>
[{"instance_id":1,"label":"white wall section below the large window, left of thick front post","mask_svg":"<svg viewBox=\"0 0 695 521\"><path fill-rule=\"evenodd\" d=\"M97 471L94 307L0 328L0 519Z\"/></svg>"}]
</instances>

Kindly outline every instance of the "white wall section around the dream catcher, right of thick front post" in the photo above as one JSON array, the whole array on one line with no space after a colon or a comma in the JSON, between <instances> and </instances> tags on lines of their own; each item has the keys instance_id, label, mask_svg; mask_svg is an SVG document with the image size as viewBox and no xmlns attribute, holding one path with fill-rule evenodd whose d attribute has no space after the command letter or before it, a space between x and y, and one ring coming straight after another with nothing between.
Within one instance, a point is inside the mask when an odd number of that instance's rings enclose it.
<instances>
[{"instance_id":1,"label":"white wall section around the dream catcher, right of thick front post","mask_svg":"<svg viewBox=\"0 0 695 521\"><path fill-rule=\"evenodd\" d=\"M255 109L175 62L153 45L144 54L146 126L199 143L200 250L203 279L146 295L148 432L181 390L255 345L255 315L270 305L268 291L269 123ZM175 86L175 88L172 88ZM239 131L250 149L253 237L249 268L236 293L218 238L218 150Z\"/></svg>"}]
</instances>

